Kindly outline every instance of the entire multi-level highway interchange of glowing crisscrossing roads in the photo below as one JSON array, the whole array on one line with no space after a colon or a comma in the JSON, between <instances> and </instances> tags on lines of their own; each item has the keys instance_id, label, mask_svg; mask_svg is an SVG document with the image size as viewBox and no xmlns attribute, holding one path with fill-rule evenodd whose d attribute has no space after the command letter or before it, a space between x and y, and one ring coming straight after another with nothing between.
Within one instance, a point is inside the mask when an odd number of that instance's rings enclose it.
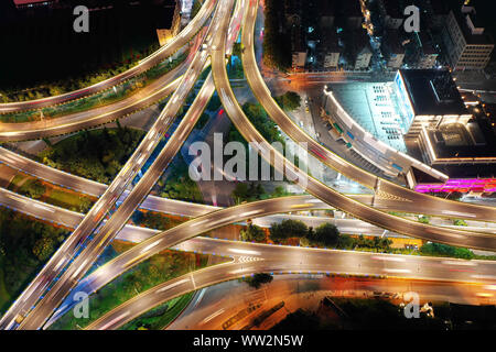
<instances>
[{"instance_id":1,"label":"entire multi-level highway interchange of glowing crisscrossing roads","mask_svg":"<svg viewBox=\"0 0 496 352\"><path fill-rule=\"evenodd\" d=\"M444 218L455 216L459 219L494 222L496 208L432 197L380 178L339 157L291 120L273 99L257 65L255 25L258 9L258 0L205 0L200 12L179 35L130 70L71 94L28 102L0 105L0 112L4 113L35 110L83 98L143 73L177 51L187 48L190 51L187 58L179 67L117 103L105 106L97 111L89 110L48 121L0 125L2 142L37 140L115 121L170 96L154 124L109 186L56 170L0 148L0 162L12 168L98 197L93 208L86 215L80 215L0 189L0 202L3 206L74 229L1 317L1 329L46 329L73 307L72 296L75 292L86 292L90 295L137 264L170 248L211 251L230 256L233 260L229 263L180 276L141 293L94 321L87 329L117 329L174 297L252 273L331 272L477 284L496 282L496 264L490 261L472 261L471 265L475 271L452 271L449 265L444 265L445 258L272 246L196 238L211 230L247 219L270 218L273 215L299 210L338 209L357 219L343 220L343 226L346 221L359 222L366 229L362 231L380 233L388 230L425 241L496 251L496 234L490 231L490 228L468 227L462 230L460 227L438 227L390 213L390 211L398 211ZM241 61L247 81L270 119L291 140L296 143L306 143L309 153L320 163L369 188L371 194L348 196L324 185L287 161L256 130L238 103L226 70L226 57L230 55L239 34L242 47ZM198 77L208 67L212 72L206 76L187 113L179 122L165 146L140 180L132 185L131 182L168 133ZM309 195L241 204L224 209L148 196L163 170L179 153L215 91L228 117L246 141L259 143L260 155L266 157L276 169L281 173L285 170L292 179L296 179L295 184L303 187ZM425 166L422 165L420 167ZM109 209L116 207L117 210L109 213ZM163 232L127 226L134 210L140 207L190 217L191 220ZM116 238L127 239L138 244L86 276L104 249ZM84 248L80 246L83 241L86 241ZM244 261L236 253L251 253L250 255L257 260ZM397 260L387 260L387 257L397 257ZM432 263L439 265L432 265ZM455 260L451 263L456 266Z\"/></svg>"}]
</instances>

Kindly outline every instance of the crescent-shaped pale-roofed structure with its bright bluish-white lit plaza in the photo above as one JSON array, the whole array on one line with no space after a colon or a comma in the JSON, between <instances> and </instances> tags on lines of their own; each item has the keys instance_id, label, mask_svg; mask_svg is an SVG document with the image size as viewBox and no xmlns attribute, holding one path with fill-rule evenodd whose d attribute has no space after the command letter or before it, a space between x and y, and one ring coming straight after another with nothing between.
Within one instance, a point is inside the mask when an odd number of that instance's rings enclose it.
<instances>
[{"instance_id":1,"label":"crescent-shaped pale-roofed structure with its bright bluish-white lit plaza","mask_svg":"<svg viewBox=\"0 0 496 352\"><path fill-rule=\"evenodd\" d=\"M402 174L408 179L416 167L438 183L445 182L448 176L403 153L406 119L396 100L392 82L327 85L321 117L332 127L331 136L385 175Z\"/></svg>"}]
</instances>

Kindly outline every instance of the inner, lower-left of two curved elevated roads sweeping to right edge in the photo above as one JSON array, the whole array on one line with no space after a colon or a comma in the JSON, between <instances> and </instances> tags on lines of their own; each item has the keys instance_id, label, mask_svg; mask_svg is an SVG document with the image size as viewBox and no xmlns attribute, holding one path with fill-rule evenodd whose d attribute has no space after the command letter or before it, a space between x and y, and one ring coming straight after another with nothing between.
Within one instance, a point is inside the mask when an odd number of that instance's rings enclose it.
<instances>
[{"instance_id":1,"label":"inner, lower-left of two curved elevated roads sweeping to right edge","mask_svg":"<svg viewBox=\"0 0 496 352\"><path fill-rule=\"evenodd\" d=\"M256 14L257 7L254 6L254 3L257 2L250 1L251 7L247 8L245 21L249 16L250 12L252 13L252 15ZM247 30L249 28L250 26L248 26L245 22L245 30L242 31L242 33L249 33L250 31ZM225 35L223 36L225 41ZM233 123L236 125L237 130L242 134L242 136L249 142L257 142L258 145L260 145L260 155L265 157L280 173L284 170L284 166L282 165L285 165L284 174L289 176L288 178L296 179L296 184L299 184L303 189L305 189L316 198L352 215L357 219L373 223L382 229L387 229L389 231L405 235L451 245L485 249L489 251L494 251L496 249L496 237L494 235L463 230L436 228L395 217L359 204L358 201L326 187L324 184L317 182L313 177L310 177L309 175L302 173L294 165L290 164L262 138L262 135L255 129L249 119L242 112L242 109L239 107L239 103L237 102L229 85L224 52L224 45L213 51L212 70L214 74L214 80L217 91L219 91L219 97L226 109L226 112L228 113ZM494 220L494 218L492 218L492 220Z\"/></svg>"}]
</instances>

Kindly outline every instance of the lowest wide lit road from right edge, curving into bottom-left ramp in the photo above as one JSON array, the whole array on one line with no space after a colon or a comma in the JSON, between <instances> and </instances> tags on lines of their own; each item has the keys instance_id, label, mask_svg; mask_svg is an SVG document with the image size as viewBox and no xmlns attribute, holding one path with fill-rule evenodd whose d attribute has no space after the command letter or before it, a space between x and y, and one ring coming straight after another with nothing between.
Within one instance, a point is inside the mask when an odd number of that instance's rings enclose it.
<instances>
[{"instance_id":1,"label":"lowest wide lit road from right edge, curving into bottom-left ramp","mask_svg":"<svg viewBox=\"0 0 496 352\"><path fill-rule=\"evenodd\" d=\"M219 246L215 243L216 248ZM251 245L249 250L242 248L242 243L228 243L226 250L262 251L262 246L269 248L271 253L265 252L263 257L255 262L231 262L214 265L195 271L166 283L160 284L132 299L112 309L95 322L87 330L118 329L126 322L141 316L145 311L170 299L182 296L192 290L212 286L222 282L249 276L255 273L337 273L347 275L386 275L391 277L418 278L424 280L441 282L479 282L485 276L482 271L494 274L495 264L478 261L457 261L433 257L410 257L403 255L389 255L378 253L359 253L345 251L323 251L298 248L281 248L269 245ZM288 252L276 256L274 252ZM303 253L305 252L306 253ZM260 252L261 253L261 252ZM310 254L312 253L312 254ZM274 255L274 256L271 256ZM484 266L484 268L482 268ZM494 277L494 276L493 276ZM494 282L495 278L493 278ZM490 282L489 282L490 283ZM487 280L484 280L487 284Z\"/></svg>"}]
</instances>

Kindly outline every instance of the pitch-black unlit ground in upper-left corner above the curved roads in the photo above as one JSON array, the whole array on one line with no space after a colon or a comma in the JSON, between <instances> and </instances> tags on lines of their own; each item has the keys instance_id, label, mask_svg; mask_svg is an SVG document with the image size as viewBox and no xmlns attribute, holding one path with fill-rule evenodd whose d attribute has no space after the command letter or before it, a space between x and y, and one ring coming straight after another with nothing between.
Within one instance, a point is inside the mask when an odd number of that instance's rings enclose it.
<instances>
[{"instance_id":1,"label":"pitch-black unlit ground in upper-left corner above the curved roads","mask_svg":"<svg viewBox=\"0 0 496 352\"><path fill-rule=\"evenodd\" d=\"M112 9L90 11L89 33L73 30L72 7L17 11L10 21L0 21L0 89L84 78L158 48L155 29L170 24L164 13L169 10L125 3L115 1Z\"/></svg>"}]
</instances>

